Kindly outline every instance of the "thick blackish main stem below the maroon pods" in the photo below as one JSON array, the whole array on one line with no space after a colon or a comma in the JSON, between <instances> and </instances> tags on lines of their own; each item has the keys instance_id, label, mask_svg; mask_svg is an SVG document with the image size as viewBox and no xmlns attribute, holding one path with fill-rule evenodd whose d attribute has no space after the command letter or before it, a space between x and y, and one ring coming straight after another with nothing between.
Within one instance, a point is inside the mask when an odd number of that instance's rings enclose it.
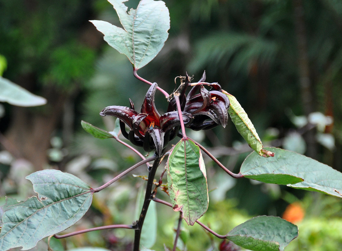
<instances>
[{"instance_id":1,"label":"thick blackish main stem below the maroon pods","mask_svg":"<svg viewBox=\"0 0 342 251\"><path fill-rule=\"evenodd\" d=\"M156 154L154 156L156 156ZM144 220L146 217L149 203L151 202L151 199L152 199L153 180L156 175L157 168L159 166L159 160L160 160L160 157L156 157L154 159L152 167L148 170L148 180L147 180L147 185L146 185L144 204L141 209L140 217L137 220L136 225L133 226L135 227L133 251L139 251L141 229L144 224Z\"/></svg>"}]
</instances>

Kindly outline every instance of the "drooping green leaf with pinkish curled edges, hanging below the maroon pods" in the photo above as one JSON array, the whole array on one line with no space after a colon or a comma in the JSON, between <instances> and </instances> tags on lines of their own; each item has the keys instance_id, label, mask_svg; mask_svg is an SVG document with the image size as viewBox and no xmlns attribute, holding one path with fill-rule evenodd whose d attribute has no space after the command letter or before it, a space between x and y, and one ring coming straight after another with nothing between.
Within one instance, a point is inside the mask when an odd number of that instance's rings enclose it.
<instances>
[{"instance_id":1,"label":"drooping green leaf with pinkish curled edges, hanging below the maroon pods","mask_svg":"<svg viewBox=\"0 0 342 251\"><path fill-rule=\"evenodd\" d=\"M173 210L183 209L188 225L194 225L208 209L208 185L205 165L199 147L181 139L167 162L167 178Z\"/></svg>"}]
</instances>

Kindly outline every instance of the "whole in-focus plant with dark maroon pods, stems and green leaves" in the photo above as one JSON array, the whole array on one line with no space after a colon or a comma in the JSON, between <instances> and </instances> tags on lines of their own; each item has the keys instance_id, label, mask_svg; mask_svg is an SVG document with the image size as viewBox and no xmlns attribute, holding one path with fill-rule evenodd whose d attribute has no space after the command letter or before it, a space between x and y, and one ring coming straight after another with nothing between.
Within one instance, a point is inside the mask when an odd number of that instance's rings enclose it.
<instances>
[{"instance_id":1,"label":"whole in-focus plant with dark maroon pods, stems and green leaves","mask_svg":"<svg viewBox=\"0 0 342 251\"><path fill-rule=\"evenodd\" d=\"M274 147L264 148L252 122L236 98L224 91L218 83L205 82L205 73L198 82L194 82L193 77L188 74L177 76L175 80L180 79L180 84L172 94L161 89L157 83L140 77L137 71L158 54L168 37L168 9L162 1L141 0L136 10L127 12L124 0L109 2L114 6L123 28L104 21L91 22L104 34L104 39L110 46L128 57L133 65L134 76L142 83L148 84L149 88L140 111L129 99L129 107L108 104L112 106L100 112L101 116L117 118L114 131L107 132L84 121L81 124L96 138L114 138L126 145L139 154L142 160L97 188L91 188L79 178L58 170L42 170L27 176L38 196L24 202L8 198L6 204L0 207L0 251L15 247L27 250L35 247L37 242L45 237L49 237L49 240L66 238L93 230L114 228L134 231L134 251L149 250L141 247L141 236L152 200L172 207L180 214L173 250L176 250L182 219L188 225L199 224L215 237L226 240L221 244L221 248L229 246L234 249L231 246L231 242L234 242L250 250L284 250L288 243L298 236L298 227L279 217L254 217L227 234L218 234L199 221L209 204L202 152L234 178L254 179L342 197L340 172L294 152ZM162 92L166 98L165 102L168 102L167 112L162 115L154 102L157 91ZM190 139L185 131L185 128L210 130L216 126L225 127L229 117L254 150L244 160L238 174L228 170L200 143ZM131 144L119 139L120 132ZM180 138L179 142L172 146L170 140L177 137ZM147 153L146 157L138 151L141 147ZM166 168L161 176L156 178L157 168L166 158ZM133 223L58 235L82 218L92 203L93 193L105 192L105 188L144 164L148 166L146 188L141 211L136 218L132 217ZM162 183L165 176L167 186ZM154 181L155 178L157 181ZM159 199L158 194L161 192L168 193L170 201ZM153 243L150 246L152 247Z\"/></svg>"}]
</instances>

